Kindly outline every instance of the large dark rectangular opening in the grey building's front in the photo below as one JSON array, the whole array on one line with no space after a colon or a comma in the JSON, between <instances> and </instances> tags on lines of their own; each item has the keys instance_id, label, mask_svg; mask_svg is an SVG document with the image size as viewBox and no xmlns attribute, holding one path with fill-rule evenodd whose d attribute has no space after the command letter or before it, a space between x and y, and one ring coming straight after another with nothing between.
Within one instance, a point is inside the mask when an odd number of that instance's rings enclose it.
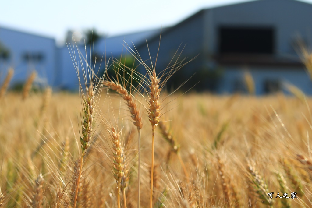
<instances>
[{"instance_id":1,"label":"large dark rectangular opening in the grey building's front","mask_svg":"<svg viewBox=\"0 0 312 208\"><path fill-rule=\"evenodd\" d=\"M273 54L273 28L220 27L220 54Z\"/></svg>"}]
</instances>

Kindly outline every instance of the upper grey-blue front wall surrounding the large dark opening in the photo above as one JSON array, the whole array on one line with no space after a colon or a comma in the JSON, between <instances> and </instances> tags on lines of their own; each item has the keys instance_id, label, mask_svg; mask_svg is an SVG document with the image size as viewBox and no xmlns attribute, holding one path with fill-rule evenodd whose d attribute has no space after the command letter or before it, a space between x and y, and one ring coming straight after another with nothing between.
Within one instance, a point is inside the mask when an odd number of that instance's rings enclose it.
<instances>
[{"instance_id":1,"label":"upper grey-blue front wall surrounding the large dark opening","mask_svg":"<svg viewBox=\"0 0 312 208\"><path fill-rule=\"evenodd\" d=\"M217 51L219 26L263 26L275 28L275 52L280 55L295 54L292 42L296 34L311 40L312 5L295 0L259 0L206 10L212 18L209 42Z\"/></svg>"}]
</instances>

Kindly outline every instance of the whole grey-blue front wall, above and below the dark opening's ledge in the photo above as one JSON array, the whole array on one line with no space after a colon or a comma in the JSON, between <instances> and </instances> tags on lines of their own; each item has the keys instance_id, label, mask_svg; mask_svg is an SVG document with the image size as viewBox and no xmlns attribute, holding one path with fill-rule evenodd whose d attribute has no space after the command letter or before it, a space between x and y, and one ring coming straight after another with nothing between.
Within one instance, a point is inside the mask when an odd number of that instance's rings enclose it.
<instances>
[{"instance_id":1,"label":"whole grey-blue front wall, above and below the dark opening's ledge","mask_svg":"<svg viewBox=\"0 0 312 208\"><path fill-rule=\"evenodd\" d=\"M274 55L299 60L294 50L297 35L312 43L312 5L296 0L258 0L205 10L205 38L207 54L218 50L220 26L273 27ZM256 41L256 40L255 40ZM307 94L312 94L312 82L304 67L247 66L256 84L256 94L264 93L265 80L291 83ZM223 65L224 75L219 93L232 93L233 83L243 80L244 69L239 65Z\"/></svg>"}]
</instances>

